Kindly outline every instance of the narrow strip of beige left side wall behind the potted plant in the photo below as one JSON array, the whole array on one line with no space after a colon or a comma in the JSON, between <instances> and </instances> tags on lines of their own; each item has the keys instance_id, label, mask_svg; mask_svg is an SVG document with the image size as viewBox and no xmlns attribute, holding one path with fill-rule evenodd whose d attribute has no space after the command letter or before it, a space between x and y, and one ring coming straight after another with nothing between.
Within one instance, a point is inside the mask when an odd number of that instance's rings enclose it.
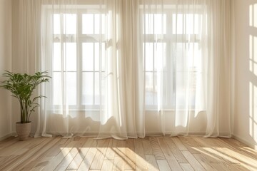
<instances>
[{"instance_id":1,"label":"narrow strip of beige left side wall behind the potted plant","mask_svg":"<svg viewBox=\"0 0 257 171\"><path fill-rule=\"evenodd\" d=\"M0 75L11 70L11 1L0 0ZM0 81L3 77L0 76ZM11 97L0 88L0 140L11 133Z\"/></svg>"}]
</instances>

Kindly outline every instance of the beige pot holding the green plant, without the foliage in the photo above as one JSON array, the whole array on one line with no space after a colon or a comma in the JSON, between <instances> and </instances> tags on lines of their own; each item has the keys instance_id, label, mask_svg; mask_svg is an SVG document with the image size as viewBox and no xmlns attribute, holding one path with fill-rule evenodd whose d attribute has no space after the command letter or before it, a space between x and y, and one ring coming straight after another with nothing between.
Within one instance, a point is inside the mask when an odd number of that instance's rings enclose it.
<instances>
[{"instance_id":1,"label":"beige pot holding the green plant, without the foliage","mask_svg":"<svg viewBox=\"0 0 257 171\"><path fill-rule=\"evenodd\" d=\"M19 140L27 140L29 133L31 133L31 122L29 123L16 123L16 133Z\"/></svg>"}]
</instances>

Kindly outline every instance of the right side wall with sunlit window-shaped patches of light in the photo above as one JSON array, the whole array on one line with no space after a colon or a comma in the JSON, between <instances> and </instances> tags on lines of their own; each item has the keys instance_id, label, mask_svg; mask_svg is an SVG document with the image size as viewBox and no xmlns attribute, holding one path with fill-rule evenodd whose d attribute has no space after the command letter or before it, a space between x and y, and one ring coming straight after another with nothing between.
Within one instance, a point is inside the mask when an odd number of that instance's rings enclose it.
<instances>
[{"instance_id":1,"label":"right side wall with sunlit window-shaped patches of light","mask_svg":"<svg viewBox=\"0 0 257 171\"><path fill-rule=\"evenodd\" d=\"M257 0L235 2L235 109L233 135L257 148Z\"/></svg>"}]
</instances>

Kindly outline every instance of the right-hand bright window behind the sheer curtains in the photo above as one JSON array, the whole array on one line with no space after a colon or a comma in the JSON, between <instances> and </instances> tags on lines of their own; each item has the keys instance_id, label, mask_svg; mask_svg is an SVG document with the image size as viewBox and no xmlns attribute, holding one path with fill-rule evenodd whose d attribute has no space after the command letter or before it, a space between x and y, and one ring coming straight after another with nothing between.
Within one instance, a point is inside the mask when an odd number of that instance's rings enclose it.
<instances>
[{"instance_id":1,"label":"right-hand bright window behind the sheer curtains","mask_svg":"<svg viewBox=\"0 0 257 171\"><path fill-rule=\"evenodd\" d=\"M182 14L174 9L164 6L162 14L141 14L142 35L146 40L143 71L148 109L158 105L158 93L167 109L195 105L196 82L202 74L202 16ZM188 97L185 93L190 93L191 100L184 98Z\"/></svg>"}]
</instances>

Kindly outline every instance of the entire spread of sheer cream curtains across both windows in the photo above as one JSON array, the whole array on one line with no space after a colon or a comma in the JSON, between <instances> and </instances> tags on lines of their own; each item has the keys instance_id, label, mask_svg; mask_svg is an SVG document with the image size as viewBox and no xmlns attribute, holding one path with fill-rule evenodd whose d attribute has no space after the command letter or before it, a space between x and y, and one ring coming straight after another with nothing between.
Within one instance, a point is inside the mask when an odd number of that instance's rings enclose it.
<instances>
[{"instance_id":1,"label":"entire spread of sheer cream curtains across both windows","mask_svg":"<svg viewBox=\"0 0 257 171\"><path fill-rule=\"evenodd\" d=\"M19 70L52 77L36 136L230 136L229 14L229 0L21 0Z\"/></svg>"}]
</instances>

